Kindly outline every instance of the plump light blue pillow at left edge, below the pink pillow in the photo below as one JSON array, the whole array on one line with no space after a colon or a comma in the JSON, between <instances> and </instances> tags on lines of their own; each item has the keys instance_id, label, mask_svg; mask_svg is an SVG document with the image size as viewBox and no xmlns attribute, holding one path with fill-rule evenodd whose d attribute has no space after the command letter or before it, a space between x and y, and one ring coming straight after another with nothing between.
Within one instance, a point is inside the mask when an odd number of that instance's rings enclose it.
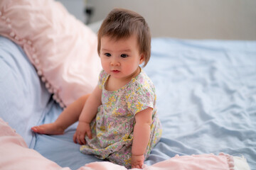
<instances>
[{"instance_id":1,"label":"plump light blue pillow at left edge, below the pink pillow","mask_svg":"<svg viewBox=\"0 0 256 170\"><path fill-rule=\"evenodd\" d=\"M48 113L50 94L22 48L0 36L0 118L34 147L31 126Z\"/></svg>"}]
</instances>

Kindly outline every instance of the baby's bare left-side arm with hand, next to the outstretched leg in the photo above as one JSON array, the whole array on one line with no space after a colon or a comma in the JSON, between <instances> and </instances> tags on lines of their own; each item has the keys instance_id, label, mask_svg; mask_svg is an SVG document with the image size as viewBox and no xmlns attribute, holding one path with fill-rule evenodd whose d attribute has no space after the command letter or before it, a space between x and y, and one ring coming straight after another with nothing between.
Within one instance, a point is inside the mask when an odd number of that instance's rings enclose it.
<instances>
[{"instance_id":1,"label":"baby's bare left-side arm with hand, next to the outstretched leg","mask_svg":"<svg viewBox=\"0 0 256 170\"><path fill-rule=\"evenodd\" d=\"M92 94L89 96L87 101L85 102L85 106L82 108L82 113L79 117L78 128L75 131L75 135L73 136L73 141L75 143L79 143L80 145L85 145L85 134L91 138L91 129L90 122L97 113L97 108L101 104L101 95L102 89L99 86L96 86Z\"/></svg>"}]
</instances>

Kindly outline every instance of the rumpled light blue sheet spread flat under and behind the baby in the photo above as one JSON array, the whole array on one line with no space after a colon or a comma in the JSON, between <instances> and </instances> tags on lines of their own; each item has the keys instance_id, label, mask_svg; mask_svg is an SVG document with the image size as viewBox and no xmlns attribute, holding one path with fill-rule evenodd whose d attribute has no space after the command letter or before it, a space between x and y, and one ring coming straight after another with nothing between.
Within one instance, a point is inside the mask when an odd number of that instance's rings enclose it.
<instances>
[{"instance_id":1,"label":"rumpled light blue sheet spread flat under and behind the baby","mask_svg":"<svg viewBox=\"0 0 256 170\"><path fill-rule=\"evenodd\" d=\"M151 60L144 68L154 81L163 136L145 164L176 154L244 155L256 165L256 42L154 38ZM62 109L52 101L42 123ZM71 169L100 161L81 154L72 137L36 135L44 157Z\"/></svg>"}]
</instances>

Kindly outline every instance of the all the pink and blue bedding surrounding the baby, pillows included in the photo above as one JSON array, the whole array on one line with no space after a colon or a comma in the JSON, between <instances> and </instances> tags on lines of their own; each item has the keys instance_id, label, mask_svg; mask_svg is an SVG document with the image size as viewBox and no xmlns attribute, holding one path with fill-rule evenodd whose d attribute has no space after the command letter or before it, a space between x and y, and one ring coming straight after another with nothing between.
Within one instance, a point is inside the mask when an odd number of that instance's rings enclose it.
<instances>
[{"instance_id":1,"label":"all the pink and blue bedding surrounding the baby, pillows included","mask_svg":"<svg viewBox=\"0 0 256 170\"><path fill-rule=\"evenodd\" d=\"M38 169L124 169L81 154L78 123L64 135L30 130L97 83L95 33L58 2L3 0L0 35L0 169L35 169L34 160ZM256 169L256 41L153 38L151 47L144 71L163 135L144 169L207 169L206 158Z\"/></svg>"}]
</instances>

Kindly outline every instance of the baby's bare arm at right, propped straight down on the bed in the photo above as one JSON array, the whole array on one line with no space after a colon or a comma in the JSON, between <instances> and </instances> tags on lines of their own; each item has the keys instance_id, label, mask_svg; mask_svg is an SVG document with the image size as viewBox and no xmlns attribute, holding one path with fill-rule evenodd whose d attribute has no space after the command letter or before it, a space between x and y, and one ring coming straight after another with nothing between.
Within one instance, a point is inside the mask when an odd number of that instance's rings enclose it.
<instances>
[{"instance_id":1,"label":"baby's bare arm at right, propped straight down on the bed","mask_svg":"<svg viewBox=\"0 0 256 170\"><path fill-rule=\"evenodd\" d=\"M142 169L144 154L149 144L152 108L146 108L135 115L134 139L132 142L132 168Z\"/></svg>"}]
</instances>

